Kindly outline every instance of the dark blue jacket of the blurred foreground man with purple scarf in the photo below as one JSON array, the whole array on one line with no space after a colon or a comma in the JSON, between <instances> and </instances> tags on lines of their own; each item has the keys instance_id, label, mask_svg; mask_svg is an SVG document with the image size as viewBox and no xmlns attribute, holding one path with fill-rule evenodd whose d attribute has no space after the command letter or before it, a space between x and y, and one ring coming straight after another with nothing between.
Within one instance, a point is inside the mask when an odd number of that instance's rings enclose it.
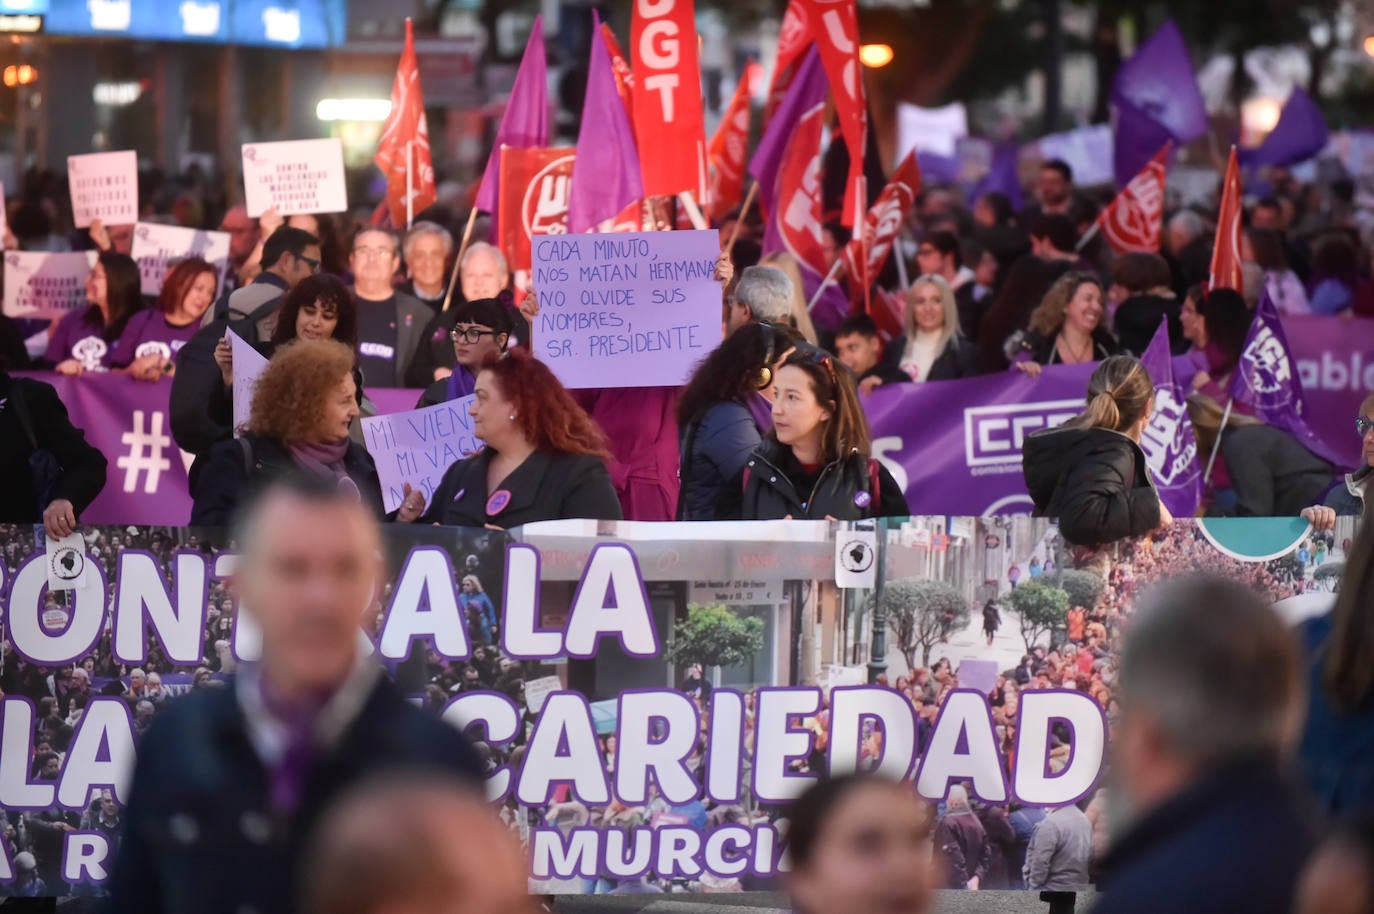
<instances>
[{"instance_id":1,"label":"dark blue jacket of the blurred foreground man with purple scarf","mask_svg":"<svg viewBox=\"0 0 1374 914\"><path fill-rule=\"evenodd\" d=\"M328 804L385 772L452 775L481 789L463 735L379 678L363 711L306 778L301 807L272 812L236 683L168 704L139 744L124 843L110 876L110 914L287 914L298 865Z\"/></svg>"}]
</instances>

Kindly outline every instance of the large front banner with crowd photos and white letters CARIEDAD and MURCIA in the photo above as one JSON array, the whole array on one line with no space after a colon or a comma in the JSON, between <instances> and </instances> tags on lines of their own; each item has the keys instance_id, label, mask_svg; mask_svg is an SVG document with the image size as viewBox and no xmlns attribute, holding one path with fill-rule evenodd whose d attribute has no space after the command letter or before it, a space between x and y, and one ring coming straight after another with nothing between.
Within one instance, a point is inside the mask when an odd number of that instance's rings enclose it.
<instances>
[{"instance_id":1,"label":"large front banner with crowd photos and white letters CARIEDAD and MURCIA","mask_svg":"<svg viewBox=\"0 0 1374 914\"><path fill-rule=\"evenodd\" d=\"M932 803L955 789L1030 810L1098 801L1142 592L1209 572L1297 624L1331 608L1355 521L1326 533L1179 521L1085 551L1046 520L907 518L878 531L881 617L872 588L837 587L852 532L389 526L389 577L363 635L403 693L482 744L532 891L776 889L786 804L823 774L905 777ZM19 734L0 744L0 771L27 772L66 741L54 777L27 782L36 801L0 810L11 826L117 819L120 772L148 726L257 658L257 628L221 576L225 537L91 526L54 550L37 528L0 525L14 649L0 711ZM54 566L87 586L51 588ZM44 701L55 708L38 720ZM735 852L721 856L727 836ZM81 882L100 895L117 841L107 829L80 855L41 847L48 893ZM618 852L628 841L653 851L647 873ZM660 852L671 847L687 870ZM981 888L1021 888L1011 878Z\"/></svg>"}]
</instances>

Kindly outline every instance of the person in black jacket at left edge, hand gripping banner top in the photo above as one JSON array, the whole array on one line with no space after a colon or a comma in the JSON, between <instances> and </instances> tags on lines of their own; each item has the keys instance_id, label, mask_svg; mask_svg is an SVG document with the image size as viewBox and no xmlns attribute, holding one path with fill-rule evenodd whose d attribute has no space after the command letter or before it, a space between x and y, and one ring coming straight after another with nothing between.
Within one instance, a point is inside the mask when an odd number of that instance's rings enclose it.
<instances>
[{"instance_id":1,"label":"person in black jacket at left edge, hand gripping banner top","mask_svg":"<svg viewBox=\"0 0 1374 914\"><path fill-rule=\"evenodd\" d=\"M67 536L104 488L106 466L52 385L0 368L0 522L41 522L48 536Z\"/></svg>"}]
</instances>

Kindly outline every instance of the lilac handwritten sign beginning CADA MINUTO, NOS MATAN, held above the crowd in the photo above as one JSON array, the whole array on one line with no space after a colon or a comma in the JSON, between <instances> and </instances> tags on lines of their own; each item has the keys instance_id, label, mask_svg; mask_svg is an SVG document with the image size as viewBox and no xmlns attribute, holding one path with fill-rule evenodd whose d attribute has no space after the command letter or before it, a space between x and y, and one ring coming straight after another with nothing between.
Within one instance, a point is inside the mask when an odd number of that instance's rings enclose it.
<instances>
[{"instance_id":1,"label":"lilac handwritten sign beginning CADA MINUTO, NOS MATAN, held above the crowd","mask_svg":"<svg viewBox=\"0 0 1374 914\"><path fill-rule=\"evenodd\" d=\"M720 344L720 238L701 232L534 239L534 352L577 388L686 383Z\"/></svg>"}]
</instances>

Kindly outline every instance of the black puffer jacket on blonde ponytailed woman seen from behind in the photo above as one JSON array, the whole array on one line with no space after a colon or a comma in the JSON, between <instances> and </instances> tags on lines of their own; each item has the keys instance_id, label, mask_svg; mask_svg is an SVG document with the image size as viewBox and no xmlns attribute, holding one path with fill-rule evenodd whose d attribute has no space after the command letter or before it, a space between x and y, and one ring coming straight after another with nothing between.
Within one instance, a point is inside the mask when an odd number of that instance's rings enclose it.
<instances>
[{"instance_id":1,"label":"black puffer jacket on blonde ponytailed woman seen from behind","mask_svg":"<svg viewBox=\"0 0 1374 914\"><path fill-rule=\"evenodd\" d=\"M1048 429L1021 452L1036 517L1059 518L1070 543L1098 546L1160 526L1160 493L1140 445L1107 429Z\"/></svg>"}]
</instances>

